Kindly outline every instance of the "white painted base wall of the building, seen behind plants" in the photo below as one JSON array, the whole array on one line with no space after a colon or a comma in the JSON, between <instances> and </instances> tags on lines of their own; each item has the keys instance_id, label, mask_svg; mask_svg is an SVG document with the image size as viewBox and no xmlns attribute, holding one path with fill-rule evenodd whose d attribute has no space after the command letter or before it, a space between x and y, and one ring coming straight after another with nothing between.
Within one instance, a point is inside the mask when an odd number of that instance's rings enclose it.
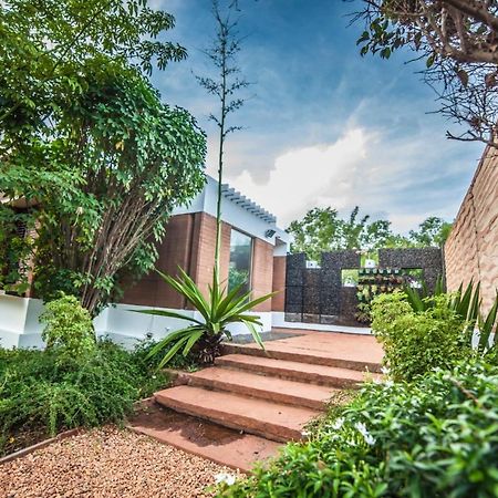
<instances>
[{"instance_id":1,"label":"white painted base wall of the building, seen behind plants","mask_svg":"<svg viewBox=\"0 0 498 498\"><path fill-rule=\"evenodd\" d=\"M43 349L41 339L43 325L39 318L43 312L43 302L40 299L17 298L0 294L0 346L11 347L37 347ZM189 322L139 313L149 307L133 304L116 304L106 308L95 320L95 333L98 336L108 336L114 342L125 347L133 347L139 341L147 338L160 340L168 333L188 325ZM189 315L197 320L201 317L197 311L170 310ZM268 332L272 326L272 313L249 313L259 315L263 324L260 332ZM249 331L241 323L229 326L234 334L247 334Z\"/></svg>"}]
</instances>

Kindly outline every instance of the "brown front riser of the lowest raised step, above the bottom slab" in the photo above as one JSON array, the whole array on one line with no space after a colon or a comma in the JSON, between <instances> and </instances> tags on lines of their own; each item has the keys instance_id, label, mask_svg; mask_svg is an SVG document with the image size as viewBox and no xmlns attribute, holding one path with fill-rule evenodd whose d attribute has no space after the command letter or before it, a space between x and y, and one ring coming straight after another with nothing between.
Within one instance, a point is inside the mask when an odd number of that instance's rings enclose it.
<instances>
[{"instance_id":1,"label":"brown front riser of the lowest raised step, above the bottom slab","mask_svg":"<svg viewBox=\"0 0 498 498\"><path fill-rule=\"evenodd\" d=\"M181 403L178 400L170 400L156 394L156 402L160 405L172 408L179 413L185 413L197 418L214 422L216 424L224 425L236 430L243 430L248 434L264 437L278 443L287 443L290 439L299 440L302 438L302 434L299 430L293 430L289 427L282 427L276 424L259 423L258 421L245 417L241 415L227 414L216 409L205 409L191 405L189 403Z\"/></svg>"}]
</instances>

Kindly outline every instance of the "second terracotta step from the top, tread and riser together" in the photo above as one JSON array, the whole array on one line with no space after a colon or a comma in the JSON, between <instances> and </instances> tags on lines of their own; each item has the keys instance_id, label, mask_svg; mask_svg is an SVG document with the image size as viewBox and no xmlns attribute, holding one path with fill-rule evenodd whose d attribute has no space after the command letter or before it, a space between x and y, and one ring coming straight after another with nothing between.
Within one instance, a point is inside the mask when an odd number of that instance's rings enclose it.
<instances>
[{"instance_id":1,"label":"second terracotta step from the top, tread and riser together","mask_svg":"<svg viewBox=\"0 0 498 498\"><path fill-rule=\"evenodd\" d=\"M355 388L367 380L369 376L373 378L380 377L378 374L359 372L357 370L272 360L247 354L227 354L219 356L216 359L215 364L224 369L249 371L260 375L271 375L300 383L309 382L310 384L342 388Z\"/></svg>"}]
</instances>

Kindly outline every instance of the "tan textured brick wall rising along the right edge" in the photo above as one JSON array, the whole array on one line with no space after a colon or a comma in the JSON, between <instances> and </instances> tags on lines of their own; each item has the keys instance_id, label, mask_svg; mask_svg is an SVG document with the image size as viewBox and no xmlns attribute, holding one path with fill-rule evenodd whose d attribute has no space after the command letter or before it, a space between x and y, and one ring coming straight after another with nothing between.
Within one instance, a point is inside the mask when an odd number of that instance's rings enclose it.
<instances>
[{"instance_id":1,"label":"tan textured brick wall rising along the right edge","mask_svg":"<svg viewBox=\"0 0 498 498\"><path fill-rule=\"evenodd\" d=\"M480 281L483 311L498 289L498 151L487 147L445 245L446 282Z\"/></svg>"}]
</instances>

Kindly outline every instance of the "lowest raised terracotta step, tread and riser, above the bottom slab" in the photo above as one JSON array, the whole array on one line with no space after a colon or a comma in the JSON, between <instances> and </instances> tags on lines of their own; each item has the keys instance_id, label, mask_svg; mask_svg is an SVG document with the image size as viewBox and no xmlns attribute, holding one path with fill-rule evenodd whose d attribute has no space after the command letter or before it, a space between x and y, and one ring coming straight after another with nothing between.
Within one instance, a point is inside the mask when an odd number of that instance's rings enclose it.
<instances>
[{"instance_id":1,"label":"lowest raised terracotta step, tread and riser, above the bottom slab","mask_svg":"<svg viewBox=\"0 0 498 498\"><path fill-rule=\"evenodd\" d=\"M177 412L281 443L301 439L303 426L320 414L310 408L187 385L159 391L155 400Z\"/></svg>"}]
</instances>

